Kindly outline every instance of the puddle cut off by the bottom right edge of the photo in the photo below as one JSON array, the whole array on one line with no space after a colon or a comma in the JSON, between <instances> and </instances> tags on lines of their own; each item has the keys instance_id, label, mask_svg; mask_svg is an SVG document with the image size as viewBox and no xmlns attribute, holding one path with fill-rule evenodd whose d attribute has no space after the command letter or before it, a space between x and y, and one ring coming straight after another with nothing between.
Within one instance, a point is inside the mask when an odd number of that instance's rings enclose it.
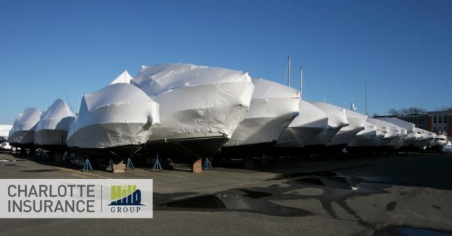
<instances>
[{"instance_id":1,"label":"puddle cut off by the bottom right edge of the photo","mask_svg":"<svg viewBox=\"0 0 452 236\"><path fill-rule=\"evenodd\" d=\"M376 230L373 236L391 236L391 235L403 235L403 236L451 236L452 232L444 232L439 230L429 230L422 228L413 228L409 226L390 225L380 230Z\"/></svg>"}]
</instances>

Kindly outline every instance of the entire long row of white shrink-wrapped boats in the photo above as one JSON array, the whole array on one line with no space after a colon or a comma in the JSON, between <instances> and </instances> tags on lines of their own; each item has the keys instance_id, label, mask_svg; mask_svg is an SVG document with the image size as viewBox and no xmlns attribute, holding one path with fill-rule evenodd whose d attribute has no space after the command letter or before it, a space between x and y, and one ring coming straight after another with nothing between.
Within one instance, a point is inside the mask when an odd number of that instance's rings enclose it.
<instances>
[{"instance_id":1,"label":"entire long row of white shrink-wrapped boats","mask_svg":"<svg viewBox=\"0 0 452 236\"><path fill-rule=\"evenodd\" d=\"M89 154L115 162L139 151L169 158L283 156L422 149L434 133L396 118L367 116L248 73L172 63L126 71L85 94L75 115L57 99L26 108L13 147Z\"/></svg>"}]
</instances>

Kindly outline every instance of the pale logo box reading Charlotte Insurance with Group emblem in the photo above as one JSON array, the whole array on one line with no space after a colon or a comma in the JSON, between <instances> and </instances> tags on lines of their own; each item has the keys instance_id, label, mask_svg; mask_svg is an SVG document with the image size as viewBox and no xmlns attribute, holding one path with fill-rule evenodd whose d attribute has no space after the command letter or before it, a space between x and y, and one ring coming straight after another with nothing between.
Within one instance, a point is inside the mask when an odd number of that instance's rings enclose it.
<instances>
[{"instance_id":1,"label":"pale logo box reading Charlotte Insurance with Group emblem","mask_svg":"<svg viewBox=\"0 0 452 236\"><path fill-rule=\"evenodd\" d=\"M0 179L0 218L153 218L153 180Z\"/></svg>"}]
</instances>

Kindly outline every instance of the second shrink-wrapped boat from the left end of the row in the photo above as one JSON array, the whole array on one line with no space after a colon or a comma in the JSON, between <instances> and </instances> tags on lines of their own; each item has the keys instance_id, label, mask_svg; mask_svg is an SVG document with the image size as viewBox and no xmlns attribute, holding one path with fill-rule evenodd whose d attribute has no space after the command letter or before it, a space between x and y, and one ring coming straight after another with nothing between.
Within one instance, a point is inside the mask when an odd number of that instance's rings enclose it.
<instances>
[{"instance_id":1,"label":"second shrink-wrapped boat from the left end of the row","mask_svg":"<svg viewBox=\"0 0 452 236\"><path fill-rule=\"evenodd\" d=\"M42 114L35 132L35 146L58 147L66 145L69 126L76 116L66 103L57 99Z\"/></svg>"}]
</instances>

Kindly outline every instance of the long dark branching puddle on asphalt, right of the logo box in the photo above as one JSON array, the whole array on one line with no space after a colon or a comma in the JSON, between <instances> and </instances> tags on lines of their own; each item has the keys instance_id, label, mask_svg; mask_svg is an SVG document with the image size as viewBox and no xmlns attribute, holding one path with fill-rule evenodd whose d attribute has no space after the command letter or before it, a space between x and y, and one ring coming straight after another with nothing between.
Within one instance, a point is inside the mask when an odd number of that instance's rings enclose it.
<instances>
[{"instance_id":1,"label":"long dark branching puddle on asphalt, right of the logo box","mask_svg":"<svg viewBox=\"0 0 452 236\"><path fill-rule=\"evenodd\" d=\"M250 211L272 216L310 216L314 213L304 209L281 206L273 201L317 199L323 209L333 218L338 218L333 209L333 203L338 204L345 212L353 216L357 221L363 222L357 213L348 206L346 199L349 197L362 197L370 194L383 194L382 185L362 182L357 176L346 176L333 171L318 172L311 175L297 175L304 178L289 178L285 185L270 185L268 187L252 187L248 189L232 189L215 194L194 196L194 193L186 193L186 198L172 196L171 194L155 194L157 199L156 210L216 210L216 211ZM302 194L297 192L300 188L316 187L320 194ZM311 190L312 191L312 190ZM319 192L319 191L316 191ZM301 193L301 194L300 194ZM182 199L181 199L182 198ZM177 199L168 201L168 199ZM162 208L161 208L162 207Z\"/></svg>"}]
</instances>

